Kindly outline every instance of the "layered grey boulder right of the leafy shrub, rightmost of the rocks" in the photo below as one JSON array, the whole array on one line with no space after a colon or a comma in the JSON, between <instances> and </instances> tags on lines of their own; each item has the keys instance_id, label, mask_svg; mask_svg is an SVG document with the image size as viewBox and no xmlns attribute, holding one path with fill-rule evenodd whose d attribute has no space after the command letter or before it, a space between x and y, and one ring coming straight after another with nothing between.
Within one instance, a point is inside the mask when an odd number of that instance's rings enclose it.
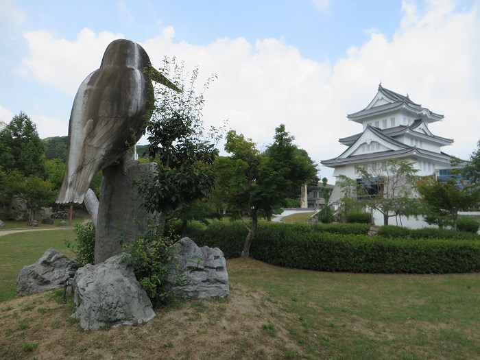
<instances>
[{"instance_id":1,"label":"layered grey boulder right of the leafy shrub, rightmost of the rocks","mask_svg":"<svg viewBox=\"0 0 480 360\"><path fill-rule=\"evenodd\" d=\"M228 296L230 289L226 261L219 248L199 248L188 237L173 246L178 251L174 261L180 263L184 272L182 284L174 285L173 293L191 298Z\"/></svg>"}]
</instances>

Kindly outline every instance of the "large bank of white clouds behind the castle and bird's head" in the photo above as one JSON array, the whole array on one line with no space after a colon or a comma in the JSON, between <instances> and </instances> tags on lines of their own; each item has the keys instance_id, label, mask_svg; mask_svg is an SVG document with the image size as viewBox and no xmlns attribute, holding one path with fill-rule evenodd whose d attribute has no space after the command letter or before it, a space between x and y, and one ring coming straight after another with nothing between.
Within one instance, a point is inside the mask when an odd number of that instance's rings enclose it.
<instances>
[{"instance_id":1,"label":"large bank of white clouds behind the castle and bird's head","mask_svg":"<svg viewBox=\"0 0 480 360\"><path fill-rule=\"evenodd\" d=\"M335 64L302 58L295 47L274 38L254 44L245 38L220 38L206 46L175 42L173 27L142 45L157 67L164 56L185 60L187 69L198 65L199 85L217 73L206 93L207 125L229 119L231 128L259 145L272 141L274 128L285 123L317 162L339 155L345 147L337 140L361 131L346 115L367 106L382 81L386 88L409 93L413 101L443 113L443 123L431 130L455 139L445 152L466 158L480 134L480 19L475 8L452 9L451 1L432 1L419 14L414 3L405 1L392 40L372 32L368 42L351 47ZM48 32L29 32L25 38L31 56L24 64L39 80L73 94L99 67L108 43L120 37L83 29L69 42ZM331 170L322 170L322 176L329 174Z\"/></svg>"}]
</instances>

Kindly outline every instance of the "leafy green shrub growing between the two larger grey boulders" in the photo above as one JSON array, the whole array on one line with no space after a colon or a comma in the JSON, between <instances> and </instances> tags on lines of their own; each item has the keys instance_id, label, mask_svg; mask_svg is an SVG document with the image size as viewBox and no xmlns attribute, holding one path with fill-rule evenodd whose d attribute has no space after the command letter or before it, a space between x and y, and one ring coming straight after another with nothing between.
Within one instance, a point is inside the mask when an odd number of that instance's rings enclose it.
<instances>
[{"instance_id":1,"label":"leafy green shrub growing between the two larger grey boulders","mask_svg":"<svg viewBox=\"0 0 480 360\"><path fill-rule=\"evenodd\" d=\"M176 255L171 237L157 236L154 232L136 237L123 245L125 252L132 254L134 274L147 292L154 307L173 298L172 284L180 283L179 265L171 260Z\"/></svg>"}]
</instances>

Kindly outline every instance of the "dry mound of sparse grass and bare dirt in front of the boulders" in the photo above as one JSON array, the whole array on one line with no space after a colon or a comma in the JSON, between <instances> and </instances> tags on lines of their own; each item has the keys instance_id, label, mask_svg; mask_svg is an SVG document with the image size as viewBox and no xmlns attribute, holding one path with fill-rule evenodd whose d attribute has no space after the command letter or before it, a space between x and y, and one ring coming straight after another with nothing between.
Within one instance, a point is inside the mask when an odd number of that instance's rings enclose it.
<instances>
[{"instance_id":1,"label":"dry mound of sparse grass and bare dirt in front of the boulders","mask_svg":"<svg viewBox=\"0 0 480 360\"><path fill-rule=\"evenodd\" d=\"M292 315L235 284L229 298L178 302L141 326L82 331L73 311L61 291L1 303L0 358L293 359L301 352L288 331Z\"/></svg>"}]
</instances>

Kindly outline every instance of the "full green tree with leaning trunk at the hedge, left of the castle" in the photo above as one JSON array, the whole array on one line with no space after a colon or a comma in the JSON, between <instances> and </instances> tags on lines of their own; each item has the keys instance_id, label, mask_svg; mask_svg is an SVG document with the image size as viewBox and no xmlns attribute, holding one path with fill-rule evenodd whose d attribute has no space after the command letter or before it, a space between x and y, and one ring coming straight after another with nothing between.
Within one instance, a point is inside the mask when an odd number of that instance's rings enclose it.
<instances>
[{"instance_id":1,"label":"full green tree with leaning trunk at the hedge, left of the castle","mask_svg":"<svg viewBox=\"0 0 480 360\"><path fill-rule=\"evenodd\" d=\"M237 211L237 217L250 217L246 224L248 234L243 243L242 257L250 255L250 245L258 228L259 215L272 216L274 209L286 204L293 191L302 184L315 182L317 169L313 161L305 158L293 145L293 136L285 125L275 130L274 143L264 154L256 149L252 139L230 130L226 136L225 150L229 157L215 161L219 197ZM283 159L283 160L282 160Z\"/></svg>"}]
</instances>

